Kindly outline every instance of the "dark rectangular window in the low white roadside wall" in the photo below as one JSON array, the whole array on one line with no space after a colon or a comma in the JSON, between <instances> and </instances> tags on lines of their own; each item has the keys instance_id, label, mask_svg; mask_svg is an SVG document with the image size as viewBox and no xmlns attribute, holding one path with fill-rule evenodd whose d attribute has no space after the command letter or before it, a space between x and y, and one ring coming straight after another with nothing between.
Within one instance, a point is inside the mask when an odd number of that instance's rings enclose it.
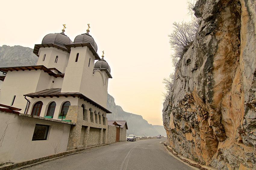
<instances>
[{"instance_id":1,"label":"dark rectangular window in the low white roadside wall","mask_svg":"<svg viewBox=\"0 0 256 170\"><path fill-rule=\"evenodd\" d=\"M32 141L46 140L49 131L49 125L36 124Z\"/></svg>"}]
</instances>

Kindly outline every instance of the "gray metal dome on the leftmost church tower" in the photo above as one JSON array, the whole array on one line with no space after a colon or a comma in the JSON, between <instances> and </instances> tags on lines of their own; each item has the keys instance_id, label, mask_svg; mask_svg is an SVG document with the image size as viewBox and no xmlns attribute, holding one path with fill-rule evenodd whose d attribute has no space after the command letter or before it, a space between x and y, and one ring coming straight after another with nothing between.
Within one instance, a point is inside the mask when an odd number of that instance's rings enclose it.
<instances>
[{"instance_id":1,"label":"gray metal dome on the leftmost church tower","mask_svg":"<svg viewBox=\"0 0 256 170\"><path fill-rule=\"evenodd\" d=\"M56 44L58 46L64 47L64 44L71 44L73 43L70 38L64 34L64 32L61 33L55 33L55 34L47 34L42 40L42 44Z\"/></svg>"}]
</instances>

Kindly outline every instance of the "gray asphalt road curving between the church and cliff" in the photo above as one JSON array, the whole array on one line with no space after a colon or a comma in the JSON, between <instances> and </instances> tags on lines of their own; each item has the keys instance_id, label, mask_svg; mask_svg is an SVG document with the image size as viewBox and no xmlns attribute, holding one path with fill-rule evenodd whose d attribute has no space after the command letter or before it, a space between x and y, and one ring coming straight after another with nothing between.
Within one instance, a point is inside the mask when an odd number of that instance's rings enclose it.
<instances>
[{"instance_id":1,"label":"gray asphalt road curving between the church and cliff","mask_svg":"<svg viewBox=\"0 0 256 170\"><path fill-rule=\"evenodd\" d=\"M74 169L117 169L117 170L188 170L189 166L169 155L164 145L165 139L120 142L83 151L77 154L51 160L26 169L74 170Z\"/></svg>"}]
</instances>

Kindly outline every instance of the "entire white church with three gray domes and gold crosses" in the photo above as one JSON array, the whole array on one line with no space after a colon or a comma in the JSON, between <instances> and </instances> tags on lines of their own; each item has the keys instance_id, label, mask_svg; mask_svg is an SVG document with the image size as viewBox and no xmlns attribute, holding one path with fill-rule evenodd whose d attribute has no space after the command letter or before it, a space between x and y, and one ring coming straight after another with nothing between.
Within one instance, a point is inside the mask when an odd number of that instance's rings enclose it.
<instances>
[{"instance_id":1,"label":"entire white church with three gray domes and gold crosses","mask_svg":"<svg viewBox=\"0 0 256 170\"><path fill-rule=\"evenodd\" d=\"M89 28L64 31L35 45L36 65L0 68L0 164L108 142L110 67Z\"/></svg>"}]
</instances>

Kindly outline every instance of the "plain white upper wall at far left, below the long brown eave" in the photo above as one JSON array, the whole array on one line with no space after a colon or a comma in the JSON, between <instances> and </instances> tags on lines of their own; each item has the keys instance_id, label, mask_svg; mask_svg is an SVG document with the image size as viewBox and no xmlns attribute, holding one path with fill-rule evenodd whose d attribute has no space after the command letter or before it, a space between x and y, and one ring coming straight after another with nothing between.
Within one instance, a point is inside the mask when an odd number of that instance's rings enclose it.
<instances>
[{"instance_id":1,"label":"plain white upper wall at far left, below the long brown eave","mask_svg":"<svg viewBox=\"0 0 256 170\"><path fill-rule=\"evenodd\" d=\"M27 100L23 95L51 88L52 80L55 81L53 87L60 88L63 78L49 76L42 70L8 71L2 83L0 103L10 106L14 95L16 95L13 106L24 112ZM30 98L28 97L28 99Z\"/></svg>"}]
</instances>

